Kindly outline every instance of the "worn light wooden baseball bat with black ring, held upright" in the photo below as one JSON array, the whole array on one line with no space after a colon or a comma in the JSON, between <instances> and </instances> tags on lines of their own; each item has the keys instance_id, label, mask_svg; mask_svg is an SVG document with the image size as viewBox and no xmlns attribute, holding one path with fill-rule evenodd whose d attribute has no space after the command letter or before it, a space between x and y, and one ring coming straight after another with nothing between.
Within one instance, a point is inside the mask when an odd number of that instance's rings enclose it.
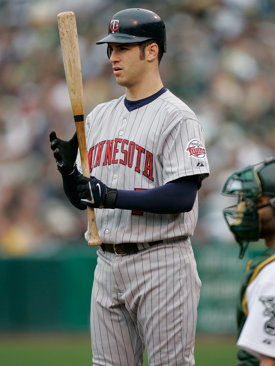
<instances>
[{"instance_id":1,"label":"worn light wooden baseball bat with black ring, held upright","mask_svg":"<svg viewBox=\"0 0 275 366\"><path fill-rule=\"evenodd\" d=\"M57 15L57 23L62 49L65 76L73 109L79 153L81 158L83 176L90 178L88 162L84 112L83 112L83 86L81 62L77 36L77 23L72 11L65 11ZM89 220L89 246L101 244L101 239L96 227L94 209L87 207Z\"/></svg>"}]
</instances>

